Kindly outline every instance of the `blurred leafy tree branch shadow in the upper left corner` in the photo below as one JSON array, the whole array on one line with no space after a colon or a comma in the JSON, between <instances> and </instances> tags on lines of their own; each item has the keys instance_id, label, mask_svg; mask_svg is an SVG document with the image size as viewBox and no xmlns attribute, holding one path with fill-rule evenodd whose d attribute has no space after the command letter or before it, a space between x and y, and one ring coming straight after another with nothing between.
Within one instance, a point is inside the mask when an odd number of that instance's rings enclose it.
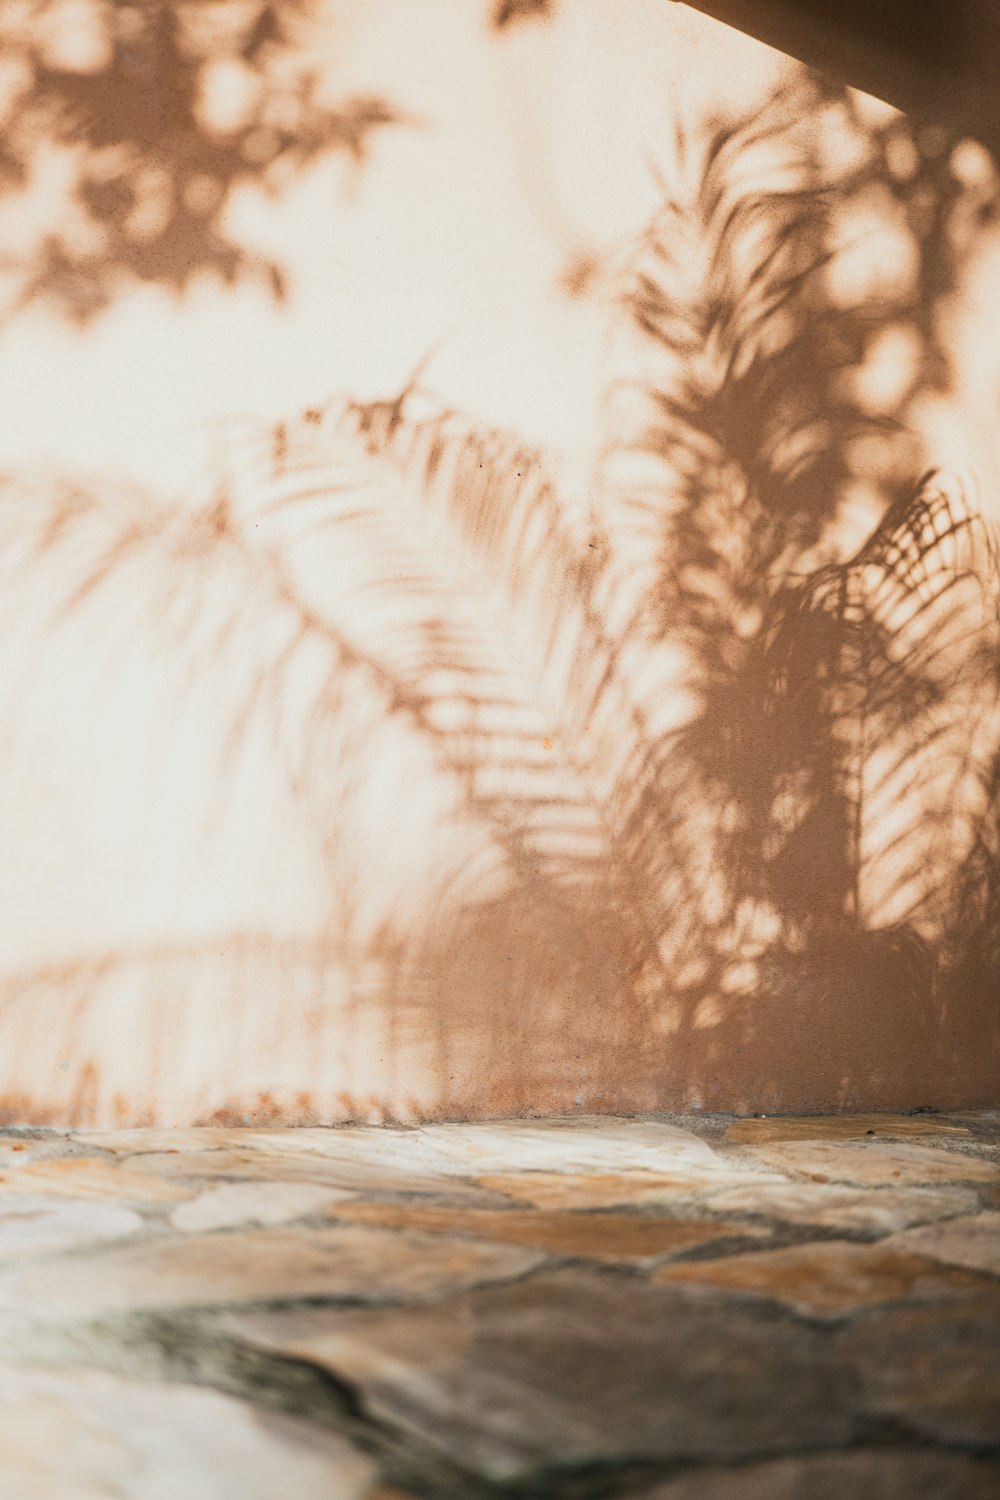
<instances>
[{"instance_id":1,"label":"blurred leafy tree branch shadow in the upper left corner","mask_svg":"<svg viewBox=\"0 0 1000 1500\"><path fill-rule=\"evenodd\" d=\"M7 312L40 303L87 324L127 285L181 292L202 274L282 302L285 267L228 226L237 194L277 195L328 153L361 168L379 130L415 123L384 99L331 98L310 14L309 0L9 6L0 192L13 212L52 162L64 182L58 224L3 258Z\"/></svg>"}]
</instances>

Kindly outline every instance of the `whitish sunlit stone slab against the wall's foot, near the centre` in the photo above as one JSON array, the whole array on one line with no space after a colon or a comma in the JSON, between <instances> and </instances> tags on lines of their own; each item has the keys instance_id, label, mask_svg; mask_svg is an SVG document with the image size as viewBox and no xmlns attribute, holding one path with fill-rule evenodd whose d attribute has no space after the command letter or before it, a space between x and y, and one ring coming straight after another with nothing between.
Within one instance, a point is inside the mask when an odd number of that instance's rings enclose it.
<instances>
[{"instance_id":1,"label":"whitish sunlit stone slab against the wall's foot, near the centre","mask_svg":"<svg viewBox=\"0 0 1000 1500\"><path fill-rule=\"evenodd\" d=\"M424 1125L417 1132L459 1170L483 1176L517 1172L702 1176L732 1170L712 1148L660 1120L499 1120L490 1125Z\"/></svg>"}]
</instances>

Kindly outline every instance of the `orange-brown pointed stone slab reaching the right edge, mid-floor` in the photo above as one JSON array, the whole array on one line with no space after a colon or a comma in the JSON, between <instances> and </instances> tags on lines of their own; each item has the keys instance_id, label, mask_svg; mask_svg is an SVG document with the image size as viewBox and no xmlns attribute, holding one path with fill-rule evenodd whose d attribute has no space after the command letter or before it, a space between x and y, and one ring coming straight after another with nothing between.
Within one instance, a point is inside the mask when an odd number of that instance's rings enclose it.
<instances>
[{"instance_id":1,"label":"orange-brown pointed stone slab reaching the right edge, mid-floor","mask_svg":"<svg viewBox=\"0 0 1000 1500\"><path fill-rule=\"evenodd\" d=\"M853 1245L843 1239L661 1266L654 1280L765 1296L820 1317L838 1317L879 1302L982 1290L981 1280L969 1272L946 1270L933 1260L885 1245Z\"/></svg>"}]
</instances>

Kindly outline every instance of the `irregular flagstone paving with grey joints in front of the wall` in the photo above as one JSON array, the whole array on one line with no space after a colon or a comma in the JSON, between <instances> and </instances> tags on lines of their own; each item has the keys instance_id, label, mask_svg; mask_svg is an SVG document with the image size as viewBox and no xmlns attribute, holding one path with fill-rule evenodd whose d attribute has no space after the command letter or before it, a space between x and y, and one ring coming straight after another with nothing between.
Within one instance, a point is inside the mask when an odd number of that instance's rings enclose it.
<instances>
[{"instance_id":1,"label":"irregular flagstone paving with grey joints in front of the wall","mask_svg":"<svg viewBox=\"0 0 1000 1500\"><path fill-rule=\"evenodd\" d=\"M4 1500L997 1500L1000 1112L0 1134Z\"/></svg>"}]
</instances>

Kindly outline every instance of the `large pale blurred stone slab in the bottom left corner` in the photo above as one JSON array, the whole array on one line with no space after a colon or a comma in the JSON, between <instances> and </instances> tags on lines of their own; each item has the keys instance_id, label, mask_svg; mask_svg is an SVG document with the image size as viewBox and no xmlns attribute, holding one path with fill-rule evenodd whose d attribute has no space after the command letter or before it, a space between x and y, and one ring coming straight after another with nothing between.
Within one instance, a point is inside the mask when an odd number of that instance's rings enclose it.
<instances>
[{"instance_id":1,"label":"large pale blurred stone slab in the bottom left corner","mask_svg":"<svg viewBox=\"0 0 1000 1500\"><path fill-rule=\"evenodd\" d=\"M342 1438L195 1386L0 1368L4 1500L363 1500Z\"/></svg>"}]
</instances>

